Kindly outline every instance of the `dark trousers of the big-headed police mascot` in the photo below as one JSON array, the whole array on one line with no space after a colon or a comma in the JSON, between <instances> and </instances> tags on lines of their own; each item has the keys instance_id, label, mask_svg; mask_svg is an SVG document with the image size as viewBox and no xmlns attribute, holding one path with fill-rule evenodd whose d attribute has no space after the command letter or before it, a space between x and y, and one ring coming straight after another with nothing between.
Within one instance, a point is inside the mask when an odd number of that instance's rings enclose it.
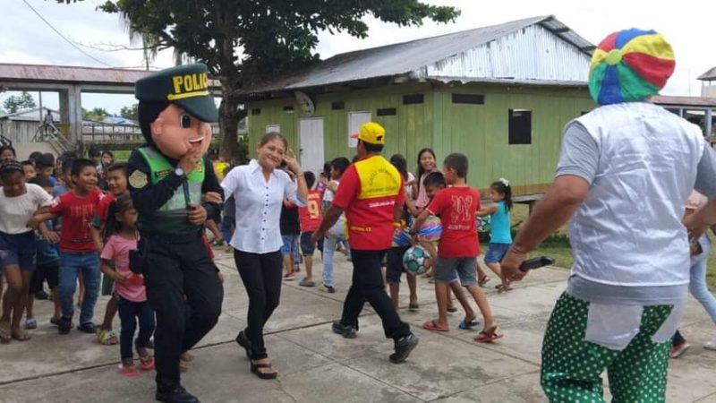
<instances>
[{"instance_id":1,"label":"dark trousers of the big-headed police mascot","mask_svg":"<svg viewBox=\"0 0 716 403\"><path fill-rule=\"evenodd\" d=\"M157 313L157 386L170 389L180 382L179 356L217 324L224 287L198 233L143 235L140 249L145 247L147 300Z\"/></svg>"}]
</instances>

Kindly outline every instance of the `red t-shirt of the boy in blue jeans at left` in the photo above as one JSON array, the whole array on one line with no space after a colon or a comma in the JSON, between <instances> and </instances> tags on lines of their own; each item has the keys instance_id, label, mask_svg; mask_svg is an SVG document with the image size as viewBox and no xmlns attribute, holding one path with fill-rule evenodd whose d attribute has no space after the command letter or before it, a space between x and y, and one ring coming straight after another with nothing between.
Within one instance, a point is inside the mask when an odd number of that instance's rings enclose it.
<instances>
[{"instance_id":1,"label":"red t-shirt of the boy in blue jeans at left","mask_svg":"<svg viewBox=\"0 0 716 403\"><path fill-rule=\"evenodd\" d=\"M61 251L92 252L95 250L90 226L99 201L104 198L105 195L98 190L94 190L84 197L79 197L74 191L70 191L52 202L50 212L60 214L62 217Z\"/></svg>"}]
</instances>

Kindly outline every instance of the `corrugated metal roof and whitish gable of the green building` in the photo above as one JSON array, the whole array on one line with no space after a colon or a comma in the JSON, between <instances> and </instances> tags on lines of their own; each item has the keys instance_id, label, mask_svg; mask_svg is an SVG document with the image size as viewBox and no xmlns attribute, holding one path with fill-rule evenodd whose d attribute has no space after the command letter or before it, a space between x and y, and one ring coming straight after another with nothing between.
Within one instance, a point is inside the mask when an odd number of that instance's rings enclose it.
<instances>
[{"instance_id":1,"label":"corrugated metal roof and whitish gable of the green building","mask_svg":"<svg viewBox=\"0 0 716 403\"><path fill-rule=\"evenodd\" d=\"M239 93L248 95L277 90L298 90L411 73L413 76L421 76L421 70L427 69L429 65L439 64L449 57L458 56L475 47L490 46L491 42L497 39L538 24L567 42L563 46L570 47L573 53L583 55L588 62L593 45L550 15L340 54L303 72L278 77L252 88L241 90ZM539 63L539 61L538 59L531 62ZM514 60L507 63L514 63ZM520 63L526 65L528 62L521 61ZM477 68L478 66L475 64L473 67ZM586 74L588 64L581 68ZM423 77L430 77L430 74L425 73ZM486 78L499 77L488 75ZM539 77L524 78L537 79ZM579 80L581 79L582 77L579 78Z\"/></svg>"}]
</instances>

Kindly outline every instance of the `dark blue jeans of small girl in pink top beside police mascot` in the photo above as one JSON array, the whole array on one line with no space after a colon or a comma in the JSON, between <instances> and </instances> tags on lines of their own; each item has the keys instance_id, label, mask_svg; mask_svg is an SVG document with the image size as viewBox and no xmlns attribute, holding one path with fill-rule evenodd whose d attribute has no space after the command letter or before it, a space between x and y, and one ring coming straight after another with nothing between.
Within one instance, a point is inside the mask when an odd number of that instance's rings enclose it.
<instances>
[{"instance_id":1,"label":"dark blue jeans of small girl in pink top beside police mascot","mask_svg":"<svg viewBox=\"0 0 716 403\"><path fill-rule=\"evenodd\" d=\"M122 322L122 331L119 335L119 347L122 361L131 360L132 339L137 330L137 320L140 322L140 334L137 336L138 348L145 348L149 338L154 334L154 311L147 301L133 302L122 296L115 296L119 309L119 320Z\"/></svg>"}]
</instances>

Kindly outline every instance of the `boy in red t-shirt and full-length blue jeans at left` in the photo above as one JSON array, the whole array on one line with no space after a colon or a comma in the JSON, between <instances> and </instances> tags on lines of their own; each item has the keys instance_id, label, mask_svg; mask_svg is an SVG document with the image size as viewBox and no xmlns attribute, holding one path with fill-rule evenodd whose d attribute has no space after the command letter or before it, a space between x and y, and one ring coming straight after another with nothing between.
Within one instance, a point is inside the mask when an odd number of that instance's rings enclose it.
<instances>
[{"instance_id":1,"label":"boy in red t-shirt and full-length blue jeans at left","mask_svg":"<svg viewBox=\"0 0 716 403\"><path fill-rule=\"evenodd\" d=\"M99 260L97 247L92 239L90 224L99 201L104 195L98 190L97 167L89 159L76 159L72 162L72 181L74 188L53 201L52 206L40 210L33 221L62 217L60 235L60 304L62 319L57 325L60 334L72 329L74 307L72 297L77 287L78 273L86 288L82 300L80 325L78 330L95 333L92 322L99 291Z\"/></svg>"}]
</instances>

